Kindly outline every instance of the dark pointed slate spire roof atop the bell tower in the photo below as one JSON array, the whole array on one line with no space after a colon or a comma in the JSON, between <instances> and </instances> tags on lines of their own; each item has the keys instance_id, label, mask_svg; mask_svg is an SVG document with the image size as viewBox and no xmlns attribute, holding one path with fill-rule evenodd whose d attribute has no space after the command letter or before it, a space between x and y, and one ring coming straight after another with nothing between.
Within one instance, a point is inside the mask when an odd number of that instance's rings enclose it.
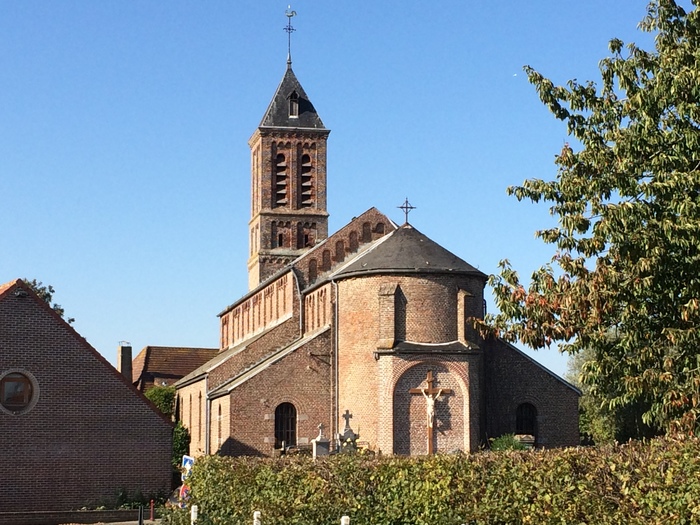
<instances>
[{"instance_id":1,"label":"dark pointed slate spire roof atop the bell tower","mask_svg":"<svg viewBox=\"0 0 700 525\"><path fill-rule=\"evenodd\" d=\"M289 96L295 91L299 96L299 116L290 117ZM265 116L260 121L260 127L325 129L321 117L316 113L314 105L301 87L291 65L287 66L282 82L277 86L275 96L272 97Z\"/></svg>"}]
</instances>

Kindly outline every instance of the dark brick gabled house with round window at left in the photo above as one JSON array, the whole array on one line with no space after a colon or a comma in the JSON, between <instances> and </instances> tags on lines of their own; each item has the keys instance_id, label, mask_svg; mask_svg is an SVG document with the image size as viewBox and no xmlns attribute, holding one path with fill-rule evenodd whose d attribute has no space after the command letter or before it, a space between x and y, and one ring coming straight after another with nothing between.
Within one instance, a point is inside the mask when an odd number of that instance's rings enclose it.
<instances>
[{"instance_id":1,"label":"dark brick gabled house with round window at left","mask_svg":"<svg viewBox=\"0 0 700 525\"><path fill-rule=\"evenodd\" d=\"M170 489L172 423L23 281L0 286L2 512Z\"/></svg>"}]
</instances>

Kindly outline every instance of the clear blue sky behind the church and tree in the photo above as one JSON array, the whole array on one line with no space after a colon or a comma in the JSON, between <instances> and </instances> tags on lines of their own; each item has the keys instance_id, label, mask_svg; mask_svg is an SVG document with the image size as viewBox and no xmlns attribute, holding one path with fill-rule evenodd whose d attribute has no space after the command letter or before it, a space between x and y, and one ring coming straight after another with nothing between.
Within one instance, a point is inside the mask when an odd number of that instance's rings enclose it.
<instances>
[{"instance_id":1,"label":"clear blue sky behind the church and tree","mask_svg":"<svg viewBox=\"0 0 700 525\"><path fill-rule=\"evenodd\" d=\"M218 345L247 289L247 141L284 74L287 4L0 1L0 282L52 284L111 362L119 341ZM527 278L565 127L522 71L598 80L645 2L310 1L294 71L326 127L334 231L376 206L485 273ZM490 291L487 293L490 297ZM492 303L489 308L493 310ZM534 357L559 374L556 350Z\"/></svg>"}]
</instances>

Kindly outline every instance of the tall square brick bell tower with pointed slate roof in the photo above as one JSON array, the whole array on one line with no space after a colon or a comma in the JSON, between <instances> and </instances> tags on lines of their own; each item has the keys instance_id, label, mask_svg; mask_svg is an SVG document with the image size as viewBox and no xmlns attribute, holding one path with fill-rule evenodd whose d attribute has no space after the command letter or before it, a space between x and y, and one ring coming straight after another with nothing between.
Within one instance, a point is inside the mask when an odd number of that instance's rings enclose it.
<instances>
[{"instance_id":1,"label":"tall square brick bell tower with pointed slate roof","mask_svg":"<svg viewBox=\"0 0 700 525\"><path fill-rule=\"evenodd\" d=\"M252 177L249 289L328 236L329 133L288 57L282 82L248 141Z\"/></svg>"}]
</instances>

